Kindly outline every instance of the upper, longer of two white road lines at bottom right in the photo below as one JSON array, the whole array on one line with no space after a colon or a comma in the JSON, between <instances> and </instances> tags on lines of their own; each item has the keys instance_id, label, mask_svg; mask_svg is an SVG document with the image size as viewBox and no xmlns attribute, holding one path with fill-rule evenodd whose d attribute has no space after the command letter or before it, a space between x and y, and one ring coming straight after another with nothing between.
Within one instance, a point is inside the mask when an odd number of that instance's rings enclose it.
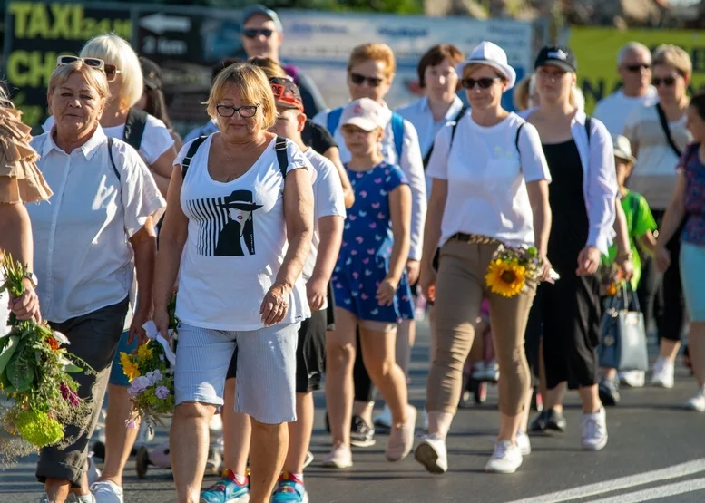
<instances>
[{"instance_id":1,"label":"upper, longer of two white road lines at bottom right","mask_svg":"<svg viewBox=\"0 0 705 503\"><path fill-rule=\"evenodd\" d=\"M642 486L659 480L680 479L705 471L705 458L695 459L679 465L664 469L654 469L636 475L620 477L619 479L605 480L595 484L588 484L578 488L565 489L561 491L536 496L534 498L516 499L509 503L561 503L562 501L572 501L575 499L587 498L590 496L598 496L602 493L612 492L619 489L633 488ZM622 502L622 500L620 500ZM622 502L623 503L623 502Z\"/></svg>"}]
</instances>

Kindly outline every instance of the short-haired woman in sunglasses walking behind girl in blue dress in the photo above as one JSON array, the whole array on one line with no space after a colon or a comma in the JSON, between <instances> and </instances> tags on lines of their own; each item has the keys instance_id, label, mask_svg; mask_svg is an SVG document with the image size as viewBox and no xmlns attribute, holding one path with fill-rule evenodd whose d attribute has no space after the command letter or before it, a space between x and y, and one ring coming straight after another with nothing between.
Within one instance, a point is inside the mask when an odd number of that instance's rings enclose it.
<instances>
[{"instance_id":1,"label":"short-haired woman in sunglasses walking behind girl in blue dress","mask_svg":"<svg viewBox=\"0 0 705 503\"><path fill-rule=\"evenodd\" d=\"M414 285L418 279L424 218L426 217L426 182L416 128L401 115L390 111L384 100L394 81L396 70L397 62L394 53L387 44L361 44L353 49L348 58L347 82L351 100L369 98L384 108L386 125L382 139L382 156L388 164L396 165L402 169L411 187L411 250L406 268L409 283ZM339 128L344 108L338 107L333 110L321 111L313 121L330 131L338 143L341 160L348 162L350 151L345 146L345 139ZM414 320L404 320L397 331L397 337L409 341L413 324ZM360 347L359 341L357 341L357 347ZM360 353L357 353L354 375L355 408L351 425L353 430L351 442L358 447L367 447L375 443L375 430L372 425L374 398L372 382L365 371Z\"/></svg>"}]
</instances>

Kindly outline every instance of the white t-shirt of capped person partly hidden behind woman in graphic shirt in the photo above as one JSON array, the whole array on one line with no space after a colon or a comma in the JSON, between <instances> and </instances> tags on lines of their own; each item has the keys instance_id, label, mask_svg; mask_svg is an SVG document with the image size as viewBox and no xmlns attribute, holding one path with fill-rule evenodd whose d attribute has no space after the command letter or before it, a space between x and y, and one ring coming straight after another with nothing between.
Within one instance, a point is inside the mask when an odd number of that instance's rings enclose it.
<instances>
[{"instance_id":1,"label":"white t-shirt of capped person partly hidden behind woman in graphic shirt","mask_svg":"<svg viewBox=\"0 0 705 503\"><path fill-rule=\"evenodd\" d=\"M345 219L346 212L343 184L340 181L335 165L311 148L306 150L305 154L314 169L313 238L311 239L311 251L306 258L306 264L304 264L304 269L301 273L304 281L308 282L313 275L313 269L316 267L318 258L318 245L320 244L318 219L323 217L341 217ZM326 307L328 307L328 302L321 309Z\"/></svg>"}]
</instances>

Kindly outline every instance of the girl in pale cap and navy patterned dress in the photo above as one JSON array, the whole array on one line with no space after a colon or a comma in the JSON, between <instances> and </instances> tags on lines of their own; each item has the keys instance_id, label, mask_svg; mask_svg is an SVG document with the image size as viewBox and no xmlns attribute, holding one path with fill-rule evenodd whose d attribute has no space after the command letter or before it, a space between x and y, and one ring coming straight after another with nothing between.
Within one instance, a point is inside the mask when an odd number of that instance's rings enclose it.
<instances>
[{"instance_id":1,"label":"girl in pale cap and navy patterned dress","mask_svg":"<svg viewBox=\"0 0 705 503\"><path fill-rule=\"evenodd\" d=\"M343 244L331 277L336 329L326 342L326 399L333 449L324 465L348 468L356 330L367 372L392 411L387 459L404 459L414 441L416 409L408 405L406 376L395 361L397 324L413 319L406 278L411 190L397 166L383 162L380 141L389 111L363 98L342 113L341 131L352 158L346 167L355 190Z\"/></svg>"}]
</instances>

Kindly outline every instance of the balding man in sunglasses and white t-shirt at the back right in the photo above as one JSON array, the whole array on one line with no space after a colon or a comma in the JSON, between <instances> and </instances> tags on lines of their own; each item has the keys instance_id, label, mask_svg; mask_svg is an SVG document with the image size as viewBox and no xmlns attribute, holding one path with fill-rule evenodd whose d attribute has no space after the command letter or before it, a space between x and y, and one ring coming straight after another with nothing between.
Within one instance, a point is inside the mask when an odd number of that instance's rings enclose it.
<instances>
[{"instance_id":1,"label":"balding man in sunglasses and white t-shirt at the back right","mask_svg":"<svg viewBox=\"0 0 705 503\"><path fill-rule=\"evenodd\" d=\"M622 134L624 121L632 110L650 106L658 99L651 85L651 52L646 45L630 42L622 46L617 59L622 88L598 102L592 114L612 134Z\"/></svg>"}]
</instances>

